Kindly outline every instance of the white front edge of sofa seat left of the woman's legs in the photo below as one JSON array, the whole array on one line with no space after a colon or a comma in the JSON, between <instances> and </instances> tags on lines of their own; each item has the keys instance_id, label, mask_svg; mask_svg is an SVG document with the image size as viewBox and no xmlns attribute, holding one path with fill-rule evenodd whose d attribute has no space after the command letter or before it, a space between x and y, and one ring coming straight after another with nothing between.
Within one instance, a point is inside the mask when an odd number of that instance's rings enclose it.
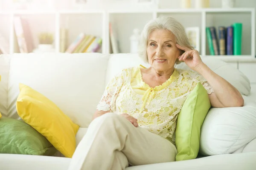
<instances>
[{"instance_id":1,"label":"white front edge of sofa seat left of the woman's legs","mask_svg":"<svg viewBox=\"0 0 256 170\"><path fill-rule=\"evenodd\" d=\"M71 158L0 154L0 170L67 170Z\"/></svg>"}]
</instances>

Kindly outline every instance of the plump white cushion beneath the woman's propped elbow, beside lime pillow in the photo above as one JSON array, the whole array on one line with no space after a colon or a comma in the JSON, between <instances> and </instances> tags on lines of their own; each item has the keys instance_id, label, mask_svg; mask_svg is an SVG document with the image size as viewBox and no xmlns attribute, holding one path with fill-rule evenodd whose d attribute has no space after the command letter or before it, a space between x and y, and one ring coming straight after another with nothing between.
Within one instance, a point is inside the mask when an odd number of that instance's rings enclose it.
<instances>
[{"instance_id":1,"label":"plump white cushion beneath the woman's propped elbow, beside lime pillow","mask_svg":"<svg viewBox=\"0 0 256 170\"><path fill-rule=\"evenodd\" d=\"M241 153L256 138L256 103L244 107L211 108L201 128L200 153Z\"/></svg>"}]
</instances>

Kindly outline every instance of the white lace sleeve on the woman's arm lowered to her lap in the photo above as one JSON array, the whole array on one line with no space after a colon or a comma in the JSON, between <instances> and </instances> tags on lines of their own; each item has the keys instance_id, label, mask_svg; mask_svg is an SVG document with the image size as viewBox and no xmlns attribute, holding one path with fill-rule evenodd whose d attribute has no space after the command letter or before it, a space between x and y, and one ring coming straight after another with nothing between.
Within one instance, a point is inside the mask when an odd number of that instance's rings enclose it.
<instances>
[{"instance_id":1,"label":"white lace sleeve on the woman's arm lowered to her lap","mask_svg":"<svg viewBox=\"0 0 256 170\"><path fill-rule=\"evenodd\" d=\"M99 111L113 112L115 110L115 101L120 89L124 83L126 72L122 70L118 75L111 79L105 88L101 100L97 106Z\"/></svg>"}]
</instances>

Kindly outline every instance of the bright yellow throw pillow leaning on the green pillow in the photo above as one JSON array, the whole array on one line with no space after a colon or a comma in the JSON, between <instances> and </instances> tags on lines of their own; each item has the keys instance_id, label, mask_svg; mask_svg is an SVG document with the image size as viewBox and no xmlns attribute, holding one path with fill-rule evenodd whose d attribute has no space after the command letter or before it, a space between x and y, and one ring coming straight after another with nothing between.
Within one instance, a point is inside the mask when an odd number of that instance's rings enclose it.
<instances>
[{"instance_id":1,"label":"bright yellow throw pillow leaning on the green pillow","mask_svg":"<svg viewBox=\"0 0 256 170\"><path fill-rule=\"evenodd\" d=\"M71 158L76 150L79 126L41 93L24 84L19 87L16 108L20 118L44 135L64 156Z\"/></svg>"}]
</instances>

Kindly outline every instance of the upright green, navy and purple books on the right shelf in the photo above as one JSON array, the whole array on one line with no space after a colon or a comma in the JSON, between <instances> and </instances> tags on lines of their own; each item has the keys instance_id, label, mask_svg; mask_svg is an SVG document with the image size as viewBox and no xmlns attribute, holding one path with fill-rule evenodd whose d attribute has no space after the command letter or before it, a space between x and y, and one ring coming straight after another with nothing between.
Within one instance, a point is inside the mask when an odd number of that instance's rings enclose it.
<instances>
[{"instance_id":1,"label":"upright green, navy and purple books on the right shelf","mask_svg":"<svg viewBox=\"0 0 256 170\"><path fill-rule=\"evenodd\" d=\"M242 23L218 27L218 36L214 26L206 28L210 55L241 55Z\"/></svg>"}]
</instances>

